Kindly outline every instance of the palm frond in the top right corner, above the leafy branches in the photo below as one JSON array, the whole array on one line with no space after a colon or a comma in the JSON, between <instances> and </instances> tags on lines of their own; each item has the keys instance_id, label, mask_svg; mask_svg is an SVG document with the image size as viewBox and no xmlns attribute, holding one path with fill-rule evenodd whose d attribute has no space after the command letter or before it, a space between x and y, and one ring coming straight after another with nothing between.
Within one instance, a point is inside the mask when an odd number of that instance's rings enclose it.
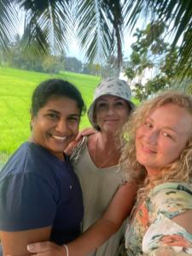
<instances>
[{"instance_id":1,"label":"palm frond in the top right corner, above the leafy branches","mask_svg":"<svg viewBox=\"0 0 192 256\"><path fill-rule=\"evenodd\" d=\"M133 28L143 15L154 14L155 20L164 21L172 36L172 49L180 44L179 67L187 72L192 60L192 2L191 0L127 0L124 15L129 28ZM152 20L153 21L153 20ZM182 42L182 43L180 43Z\"/></svg>"}]
</instances>

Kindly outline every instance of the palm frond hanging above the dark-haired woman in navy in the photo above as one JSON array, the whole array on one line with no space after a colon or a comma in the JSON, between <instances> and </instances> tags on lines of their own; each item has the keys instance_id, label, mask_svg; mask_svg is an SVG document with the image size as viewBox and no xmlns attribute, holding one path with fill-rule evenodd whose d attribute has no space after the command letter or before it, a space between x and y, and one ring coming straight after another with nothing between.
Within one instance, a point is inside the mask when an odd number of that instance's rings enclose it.
<instances>
[{"instance_id":1,"label":"palm frond hanging above the dark-haired woman in navy","mask_svg":"<svg viewBox=\"0 0 192 256\"><path fill-rule=\"evenodd\" d=\"M26 11L23 42L36 45L39 51L47 48L57 52L67 49L70 31L70 10L67 1L17 1Z\"/></svg>"}]
</instances>

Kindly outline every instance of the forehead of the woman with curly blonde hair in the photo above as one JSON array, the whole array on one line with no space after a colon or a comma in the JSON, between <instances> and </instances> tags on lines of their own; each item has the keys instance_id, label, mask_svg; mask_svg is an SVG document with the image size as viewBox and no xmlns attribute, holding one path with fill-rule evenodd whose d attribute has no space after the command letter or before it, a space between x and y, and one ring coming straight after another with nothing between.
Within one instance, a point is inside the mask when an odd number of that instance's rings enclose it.
<instances>
[{"instance_id":1,"label":"forehead of the woman with curly blonde hair","mask_svg":"<svg viewBox=\"0 0 192 256\"><path fill-rule=\"evenodd\" d=\"M179 133L191 133L192 130L192 115L186 109L177 105L166 104L155 108L148 113L147 117L157 125L173 129Z\"/></svg>"}]
</instances>

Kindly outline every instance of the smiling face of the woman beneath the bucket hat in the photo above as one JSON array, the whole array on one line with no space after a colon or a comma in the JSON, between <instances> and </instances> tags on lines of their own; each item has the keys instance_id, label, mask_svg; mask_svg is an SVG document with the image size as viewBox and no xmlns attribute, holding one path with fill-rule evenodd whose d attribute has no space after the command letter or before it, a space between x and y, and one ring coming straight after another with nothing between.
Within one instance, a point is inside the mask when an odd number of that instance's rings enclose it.
<instances>
[{"instance_id":1,"label":"smiling face of the woman beneath the bucket hat","mask_svg":"<svg viewBox=\"0 0 192 256\"><path fill-rule=\"evenodd\" d=\"M101 96L96 100L96 124L101 131L116 132L131 112L128 103L118 96Z\"/></svg>"}]
</instances>

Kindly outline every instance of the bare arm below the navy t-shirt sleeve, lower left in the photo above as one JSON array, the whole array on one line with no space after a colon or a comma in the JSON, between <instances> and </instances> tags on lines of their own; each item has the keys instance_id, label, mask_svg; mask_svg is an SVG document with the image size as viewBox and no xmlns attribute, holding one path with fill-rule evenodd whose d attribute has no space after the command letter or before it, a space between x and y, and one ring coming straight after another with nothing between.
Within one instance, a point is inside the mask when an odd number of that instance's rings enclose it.
<instances>
[{"instance_id":1,"label":"bare arm below the navy t-shirt sleeve, lower left","mask_svg":"<svg viewBox=\"0 0 192 256\"><path fill-rule=\"evenodd\" d=\"M3 255L30 255L26 250L26 245L35 241L49 240L50 231L51 227L15 232L0 231Z\"/></svg>"}]
</instances>

